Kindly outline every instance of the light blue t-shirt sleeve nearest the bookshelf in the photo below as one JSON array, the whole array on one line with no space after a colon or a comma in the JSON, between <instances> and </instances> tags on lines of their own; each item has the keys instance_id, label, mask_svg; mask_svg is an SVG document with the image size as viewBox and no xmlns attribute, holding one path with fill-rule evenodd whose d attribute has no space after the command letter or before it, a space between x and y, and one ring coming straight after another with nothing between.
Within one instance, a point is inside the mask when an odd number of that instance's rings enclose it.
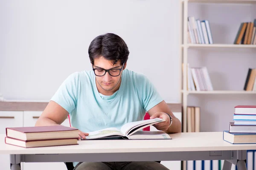
<instances>
[{"instance_id":1,"label":"light blue t-shirt sleeve nearest the bookshelf","mask_svg":"<svg viewBox=\"0 0 256 170\"><path fill-rule=\"evenodd\" d=\"M155 105L163 101L162 97L157 92L154 85L149 81L149 79L145 75L137 74L137 76L135 77L137 91L142 100L143 109L145 111L150 110Z\"/></svg>"}]
</instances>

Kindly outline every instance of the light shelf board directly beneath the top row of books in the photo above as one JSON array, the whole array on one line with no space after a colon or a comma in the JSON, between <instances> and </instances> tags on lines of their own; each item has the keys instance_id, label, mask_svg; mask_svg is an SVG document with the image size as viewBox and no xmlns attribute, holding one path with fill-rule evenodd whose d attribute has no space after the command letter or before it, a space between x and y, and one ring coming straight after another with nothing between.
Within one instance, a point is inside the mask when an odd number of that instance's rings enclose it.
<instances>
[{"instance_id":1,"label":"light shelf board directly beneath the top row of books","mask_svg":"<svg viewBox=\"0 0 256 170\"><path fill-rule=\"evenodd\" d=\"M184 47L184 44L181 45ZM188 44L188 48L256 48L251 44Z\"/></svg>"}]
</instances>

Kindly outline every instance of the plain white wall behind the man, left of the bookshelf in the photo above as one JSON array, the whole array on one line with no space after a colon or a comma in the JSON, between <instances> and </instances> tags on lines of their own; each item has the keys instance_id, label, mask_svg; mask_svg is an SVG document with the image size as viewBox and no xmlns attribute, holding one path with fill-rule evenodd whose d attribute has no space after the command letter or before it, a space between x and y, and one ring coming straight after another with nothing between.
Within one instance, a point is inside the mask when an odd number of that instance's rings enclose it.
<instances>
[{"instance_id":1,"label":"plain white wall behind the man, left of the bookshelf","mask_svg":"<svg viewBox=\"0 0 256 170\"><path fill-rule=\"evenodd\" d=\"M178 0L1 0L0 92L49 100L71 73L91 69L94 37L128 45L128 69L144 73L166 101L180 102Z\"/></svg>"}]
</instances>

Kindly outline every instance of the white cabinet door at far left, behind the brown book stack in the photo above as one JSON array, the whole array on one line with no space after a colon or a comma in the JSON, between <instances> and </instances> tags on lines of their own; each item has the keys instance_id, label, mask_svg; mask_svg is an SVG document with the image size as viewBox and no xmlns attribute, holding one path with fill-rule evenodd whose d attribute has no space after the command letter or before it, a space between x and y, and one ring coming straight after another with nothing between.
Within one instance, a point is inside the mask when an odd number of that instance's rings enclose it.
<instances>
[{"instance_id":1,"label":"white cabinet door at far left, behind the brown book stack","mask_svg":"<svg viewBox=\"0 0 256 170\"><path fill-rule=\"evenodd\" d=\"M23 111L0 111L0 133L6 134L6 127L22 127ZM10 156L0 154L1 170L10 169ZM22 164L21 164L22 167Z\"/></svg>"}]
</instances>

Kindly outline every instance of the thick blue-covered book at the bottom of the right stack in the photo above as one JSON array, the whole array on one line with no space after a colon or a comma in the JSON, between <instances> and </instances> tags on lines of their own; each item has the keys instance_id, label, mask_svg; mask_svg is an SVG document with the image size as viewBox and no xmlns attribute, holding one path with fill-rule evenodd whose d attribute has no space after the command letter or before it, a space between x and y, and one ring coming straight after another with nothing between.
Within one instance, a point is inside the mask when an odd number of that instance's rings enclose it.
<instances>
[{"instance_id":1,"label":"thick blue-covered book at the bottom of the right stack","mask_svg":"<svg viewBox=\"0 0 256 170\"><path fill-rule=\"evenodd\" d=\"M230 133L224 130L223 140L231 144L256 144L256 133Z\"/></svg>"}]
</instances>

